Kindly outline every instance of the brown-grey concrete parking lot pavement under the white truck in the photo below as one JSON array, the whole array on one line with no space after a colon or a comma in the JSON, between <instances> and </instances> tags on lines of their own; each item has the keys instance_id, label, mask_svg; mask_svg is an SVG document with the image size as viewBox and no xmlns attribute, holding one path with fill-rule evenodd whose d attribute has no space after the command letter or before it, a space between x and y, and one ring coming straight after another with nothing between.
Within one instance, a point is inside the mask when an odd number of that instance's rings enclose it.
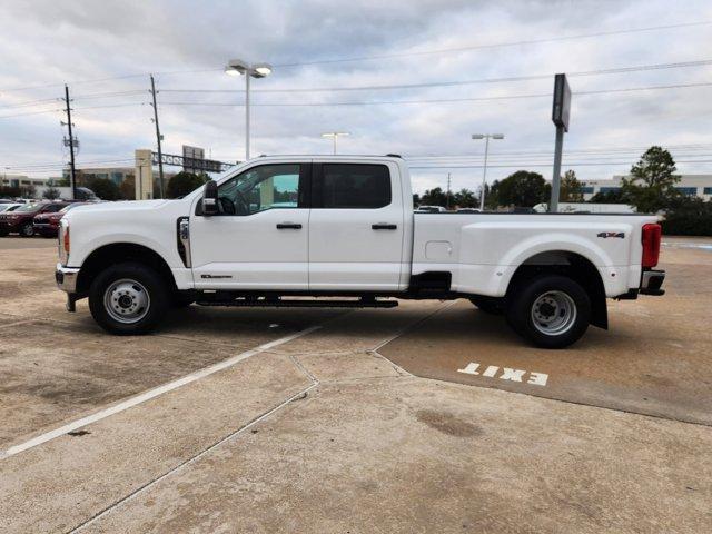
<instances>
[{"instance_id":1,"label":"brown-grey concrete parking lot pavement under the white truck","mask_svg":"<svg viewBox=\"0 0 712 534\"><path fill-rule=\"evenodd\" d=\"M664 241L664 297L545 352L467 301L112 337L2 238L0 531L709 532L712 240Z\"/></svg>"}]
</instances>

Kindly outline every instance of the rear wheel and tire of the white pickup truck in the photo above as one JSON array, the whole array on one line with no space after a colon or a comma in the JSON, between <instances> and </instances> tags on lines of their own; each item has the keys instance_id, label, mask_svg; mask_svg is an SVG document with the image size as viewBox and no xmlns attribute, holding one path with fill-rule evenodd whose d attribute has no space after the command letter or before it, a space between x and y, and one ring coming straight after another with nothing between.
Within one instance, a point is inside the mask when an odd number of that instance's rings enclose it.
<instances>
[{"instance_id":1,"label":"rear wheel and tire of the white pickup truck","mask_svg":"<svg viewBox=\"0 0 712 534\"><path fill-rule=\"evenodd\" d=\"M589 328L591 299L575 280L543 275L514 288L506 317L517 334L537 347L565 348Z\"/></svg>"}]
</instances>

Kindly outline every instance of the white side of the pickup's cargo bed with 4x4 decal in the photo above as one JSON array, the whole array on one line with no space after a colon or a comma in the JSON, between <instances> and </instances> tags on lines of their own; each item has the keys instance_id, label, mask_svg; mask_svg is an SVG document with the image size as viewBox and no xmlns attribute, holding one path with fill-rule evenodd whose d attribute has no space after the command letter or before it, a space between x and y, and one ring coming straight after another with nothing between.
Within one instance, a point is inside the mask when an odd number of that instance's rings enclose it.
<instances>
[{"instance_id":1,"label":"white side of the pickup's cargo bed with 4x4 decal","mask_svg":"<svg viewBox=\"0 0 712 534\"><path fill-rule=\"evenodd\" d=\"M502 297L521 265L585 258L609 297L641 279L639 214L414 214L413 275L452 274L454 291Z\"/></svg>"}]
</instances>

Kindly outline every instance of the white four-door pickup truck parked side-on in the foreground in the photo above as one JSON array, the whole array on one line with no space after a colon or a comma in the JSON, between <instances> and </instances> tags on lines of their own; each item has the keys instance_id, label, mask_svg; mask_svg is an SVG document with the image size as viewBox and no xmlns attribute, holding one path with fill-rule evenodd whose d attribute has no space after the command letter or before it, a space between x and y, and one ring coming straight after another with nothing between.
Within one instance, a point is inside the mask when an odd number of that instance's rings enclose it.
<instances>
[{"instance_id":1,"label":"white four-door pickup truck parked side-on in the foreground","mask_svg":"<svg viewBox=\"0 0 712 534\"><path fill-rule=\"evenodd\" d=\"M56 279L70 312L89 297L113 334L146 333L192 303L467 298L561 348L589 324L607 327L606 297L663 294L660 238L646 215L414 214L407 165L393 155L260 157L181 199L72 209Z\"/></svg>"}]
</instances>

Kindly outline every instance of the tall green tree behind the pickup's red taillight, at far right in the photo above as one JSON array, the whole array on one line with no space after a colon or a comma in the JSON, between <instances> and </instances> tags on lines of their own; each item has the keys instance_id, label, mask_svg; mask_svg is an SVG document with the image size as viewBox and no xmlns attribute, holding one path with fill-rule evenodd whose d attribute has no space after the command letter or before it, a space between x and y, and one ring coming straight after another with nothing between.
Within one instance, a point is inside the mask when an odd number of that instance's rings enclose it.
<instances>
[{"instance_id":1,"label":"tall green tree behind the pickup's red taillight, at far right","mask_svg":"<svg viewBox=\"0 0 712 534\"><path fill-rule=\"evenodd\" d=\"M641 159L631 167L630 177L621 180L624 201L637 207L642 212L655 212L669 208L680 197L675 184L675 160L662 147L650 147Z\"/></svg>"}]
</instances>

